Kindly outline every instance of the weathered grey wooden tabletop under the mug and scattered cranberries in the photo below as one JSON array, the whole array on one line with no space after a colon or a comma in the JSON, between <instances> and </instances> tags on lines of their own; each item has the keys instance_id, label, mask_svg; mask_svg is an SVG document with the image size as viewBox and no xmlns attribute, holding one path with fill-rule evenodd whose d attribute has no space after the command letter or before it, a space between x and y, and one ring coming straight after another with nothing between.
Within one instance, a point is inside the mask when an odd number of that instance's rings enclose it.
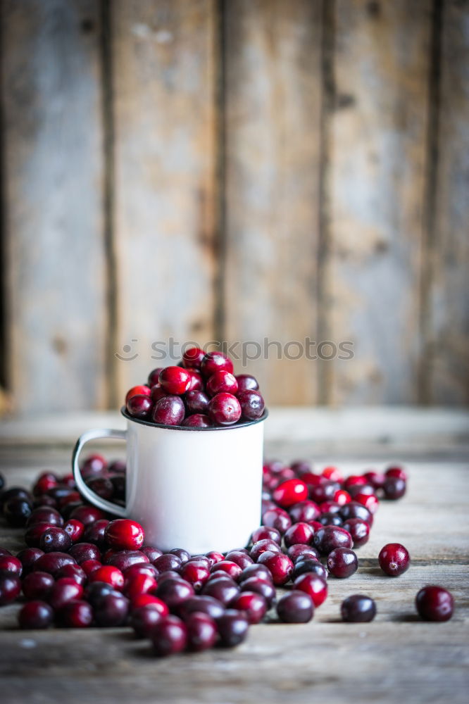
<instances>
[{"instance_id":1,"label":"weathered grey wooden tabletop under the mug and scattered cranberries","mask_svg":"<svg viewBox=\"0 0 469 704\"><path fill-rule=\"evenodd\" d=\"M75 436L87 427L119 427L117 414L4 423L1 472L9 486L37 472L67 472ZM320 470L345 472L404 462L406 496L384 503L370 541L359 549L358 572L330 578L330 595L304 625L260 624L234 650L208 650L158 660L130 629L19 631L19 605L0 609L1 701L8 704L84 702L310 704L371 702L465 703L469 677L469 414L444 410L273 410L268 457L306 458ZM109 457L120 444L106 446ZM21 529L0 526L0 545L23 547ZM411 569L384 577L377 554L404 543ZM456 609L443 624L421 622L415 593L439 584ZM344 624L339 605L352 593L375 598L370 624Z\"/></svg>"}]
</instances>

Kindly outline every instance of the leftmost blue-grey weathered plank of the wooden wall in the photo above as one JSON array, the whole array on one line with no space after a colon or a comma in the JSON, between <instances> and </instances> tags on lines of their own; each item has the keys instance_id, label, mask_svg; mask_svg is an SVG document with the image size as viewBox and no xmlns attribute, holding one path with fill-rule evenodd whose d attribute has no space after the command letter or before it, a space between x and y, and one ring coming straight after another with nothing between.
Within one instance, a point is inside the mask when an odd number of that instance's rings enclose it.
<instances>
[{"instance_id":1,"label":"leftmost blue-grey weathered plank of the wooden wall","mask_svg":"<svg viewBox=\"0 0 469 704\"><path fill-rule=\"evenodd\" d=\"M99 4L1 3L7 377L15 408L104 405Z\"/></svg>"}]
</instances>

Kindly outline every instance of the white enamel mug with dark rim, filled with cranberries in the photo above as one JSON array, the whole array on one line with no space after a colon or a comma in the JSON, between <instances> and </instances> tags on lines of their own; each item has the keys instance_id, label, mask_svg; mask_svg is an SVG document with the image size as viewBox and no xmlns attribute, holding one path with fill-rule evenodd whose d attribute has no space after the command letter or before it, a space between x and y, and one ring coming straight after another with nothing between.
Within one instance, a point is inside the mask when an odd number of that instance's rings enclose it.
<instances>
[{"instance_id":1,"label":"white enamel mug with dark rim, filled with cranberries","mask_svg":"<svg viewBox=\"0 0 469 704\"><path fill-rule=\"evenodd\" d=\"M102 510L144 527L145 544L192 555L246 546L261 522L263 421L212 428L155 425L132 418L127 430L88 430L73 451L77 488ZM125 507L85 484L78 458L90 440L127 441Z\"/></svg>"}]
</instances>

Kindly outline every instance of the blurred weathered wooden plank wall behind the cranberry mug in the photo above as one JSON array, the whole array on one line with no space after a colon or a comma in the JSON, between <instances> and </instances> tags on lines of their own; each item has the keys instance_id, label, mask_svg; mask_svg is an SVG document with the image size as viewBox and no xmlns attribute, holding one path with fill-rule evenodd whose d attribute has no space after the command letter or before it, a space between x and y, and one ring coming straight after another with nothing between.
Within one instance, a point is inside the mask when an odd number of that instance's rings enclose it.
<instances>
[{"instance_id":1,"label":"blurred weathered wooden plank wall behind the cranberry mug","mask_svg":"<svg viewBox=\"0 0 469 704\"><path fill-rule=\"evenodd\" d=\"M469 0L0 8L17 410L115 407L170 337L268 338L269 403L468 403Z\"/></svg>"}]
</instances>

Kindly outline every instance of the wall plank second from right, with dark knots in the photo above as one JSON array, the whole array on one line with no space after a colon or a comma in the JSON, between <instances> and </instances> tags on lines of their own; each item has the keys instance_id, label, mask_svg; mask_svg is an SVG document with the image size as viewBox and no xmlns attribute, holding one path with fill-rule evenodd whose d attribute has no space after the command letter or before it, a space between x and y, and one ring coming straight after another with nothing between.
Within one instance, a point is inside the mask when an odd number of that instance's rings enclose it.
<instances>
[{"instance_id":1,"label":"wall plank second from right, with dark knots","mask_svg":"<svg viewBox=\"0 0 469 704\"><path fill-rule=\"evenodd\" d=\"M417 394L430 10L337 0L330 115L325 311L332 403L413 403Z\"/></svg>"}]
</instances>

